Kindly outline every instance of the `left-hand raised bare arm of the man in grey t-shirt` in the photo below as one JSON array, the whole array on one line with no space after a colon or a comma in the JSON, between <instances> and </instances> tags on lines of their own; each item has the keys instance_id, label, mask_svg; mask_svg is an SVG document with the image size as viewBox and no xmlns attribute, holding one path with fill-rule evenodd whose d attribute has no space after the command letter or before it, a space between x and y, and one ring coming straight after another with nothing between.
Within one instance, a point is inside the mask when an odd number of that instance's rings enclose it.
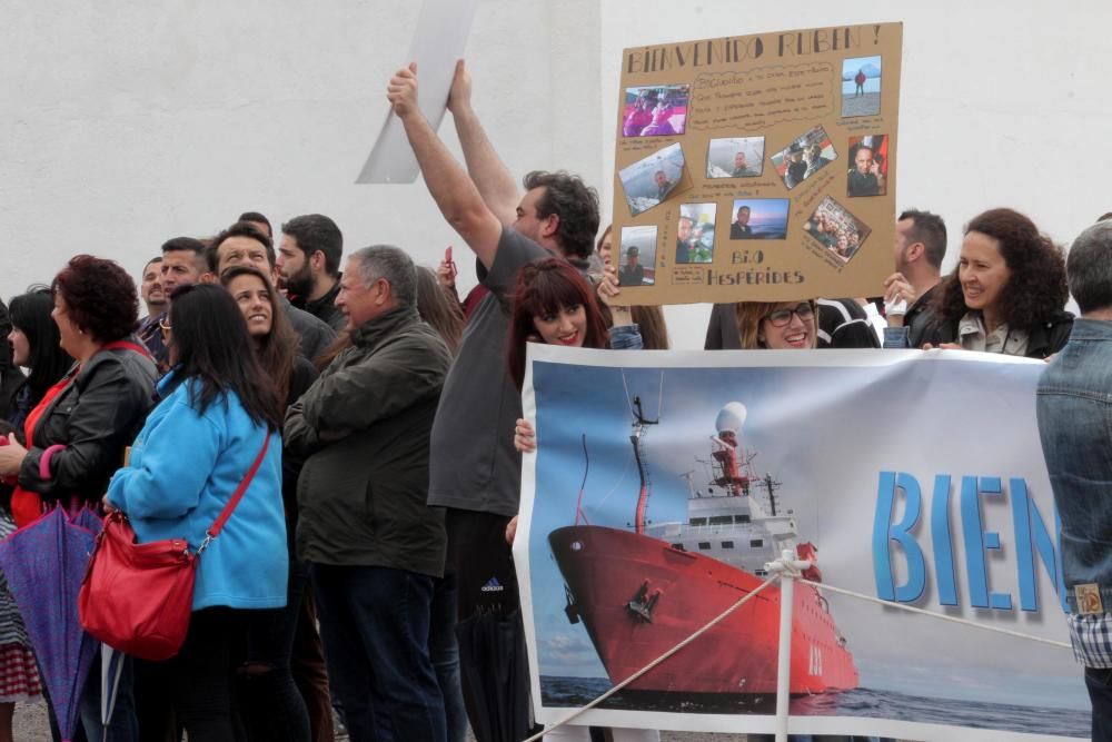
<instances>
[{"instance_id":1,"label":"left-hand raised bare arm of the man in grey t-shirt","mask_svg":"<svg viewBox=\"0 0 1112 742\"><path fill-rule=\"evenodd\" d=\"M495 216L464 168L456 162L417 106L417 65L404 67L390 78L387 99L405 127L409 146L420 165L425 185L440 214L459 233L467 246L487 268L494 265L502 236L502 221Z\"/></svg>"}]
</instances>

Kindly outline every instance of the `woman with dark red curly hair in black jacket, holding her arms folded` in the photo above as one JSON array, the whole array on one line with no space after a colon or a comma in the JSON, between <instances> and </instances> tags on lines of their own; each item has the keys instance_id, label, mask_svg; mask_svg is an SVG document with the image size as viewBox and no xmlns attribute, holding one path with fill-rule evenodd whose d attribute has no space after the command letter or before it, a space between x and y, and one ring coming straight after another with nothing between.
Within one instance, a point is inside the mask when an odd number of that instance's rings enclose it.
<instances>
[{"instance_id":1,"label":"woman with dark red curly hair in black jacket, holding her arms folded","mask_svg":"<svg viewBox=\"0 0 1112 742\"><path fill-rule=\"evenodd\" d=\"M23 422L23 436L0 446L0 476L17 477L11 511L17 525L44 505L97 505L123 451L153 405L157 370L131 335L139 319L135 281L116 263L78 255L50 287L61 349L75 359ZM90 739L135 739L131 661L126 660L116 710L100 722L100 673L86 683L81 721Z\"/></svg>"}]
</instances>

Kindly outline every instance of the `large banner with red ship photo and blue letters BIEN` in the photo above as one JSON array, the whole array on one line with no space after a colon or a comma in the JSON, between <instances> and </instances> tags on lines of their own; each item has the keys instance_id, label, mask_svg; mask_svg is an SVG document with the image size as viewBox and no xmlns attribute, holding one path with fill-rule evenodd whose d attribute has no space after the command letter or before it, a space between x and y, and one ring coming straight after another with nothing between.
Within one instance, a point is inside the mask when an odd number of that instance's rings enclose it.
<instances>
[{"instance_id":1,"label":"large banner with red ship photo and blue letters BIEN","mask_svg":"<svg viewBox=\"0 0 1112 742\"><path fill-rule=\"evenodd\" d=\"M793 733L1088 736L1035 423L1043 364L529 353L538 452L524 462L514 554L540 720L678 644L791 550L815 555L830 586L796 585ZM772 732L778 614L774 584L580 723Z\"/></svg>"}]
</instances>

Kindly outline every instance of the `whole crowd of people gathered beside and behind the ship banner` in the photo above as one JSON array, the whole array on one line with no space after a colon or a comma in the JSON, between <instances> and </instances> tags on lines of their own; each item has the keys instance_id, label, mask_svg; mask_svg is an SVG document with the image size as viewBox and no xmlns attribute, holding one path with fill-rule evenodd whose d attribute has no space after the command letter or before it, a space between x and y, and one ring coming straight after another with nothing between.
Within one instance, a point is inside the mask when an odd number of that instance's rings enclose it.
<instances>
[{"instance_id":1,"label":"whole crowd of people gathered beside and behind the ship banner","mask_svg":"<svg viewBox=\"0 0 1112 742\"><path fill-rule=\"evenodd\" d=\"M594 189L534 171L519 192L463 62L448 108L466 169L417 106L416 68L394 76L388 98L433 200L477 259L479 287L463 300L450 256L436 271L393 246L345 256L322 215L282 224L276 248L269 220L248 211L214 237L168 239L138 288L116 263L80 255L0 317L11 432L0 534L48 507L89 506L123 512L140 542L207 545L180 652L126 660L107 729L90 673L85 739L319 742L334 738L334 714L356 741L463 742L468 721L487 739L484 680L460 673L456 637L477 615L520 621L510 546L522 452L539 443L522 413L527 344L668 339L658 308L619 306L619 285L635 281L619 281L608 228L596 246ZM1108 229L1099 237L1112 246ZM705 347L1062 350L1074 321L1063 251L1027 217L971 219L943 276L946 244L939 216L905 211L874 304L715 305ZM41 692L7 588L0 641L3 740L12 703Z\"/></svg>"}]
</instances>

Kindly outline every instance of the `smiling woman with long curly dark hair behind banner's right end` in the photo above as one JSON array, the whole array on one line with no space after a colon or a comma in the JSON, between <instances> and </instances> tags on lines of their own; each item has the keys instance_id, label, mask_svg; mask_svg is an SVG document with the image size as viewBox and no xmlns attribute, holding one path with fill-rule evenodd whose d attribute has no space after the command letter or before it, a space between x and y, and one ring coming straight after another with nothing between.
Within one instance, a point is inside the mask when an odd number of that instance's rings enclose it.
<instances>
[{"instance_id":1,"label":"smiling woman with long curly dark hair behind banner's right end","mask_svg":"<svg viewBox=\"0 0 1112 742\"><path fill-rule=\"evenodd\" d=\"M1073 327L1062 250L1012 209L965 225L957 267L935 294L931 345L1045 358Z\"/></svg>"}]
</instances>

